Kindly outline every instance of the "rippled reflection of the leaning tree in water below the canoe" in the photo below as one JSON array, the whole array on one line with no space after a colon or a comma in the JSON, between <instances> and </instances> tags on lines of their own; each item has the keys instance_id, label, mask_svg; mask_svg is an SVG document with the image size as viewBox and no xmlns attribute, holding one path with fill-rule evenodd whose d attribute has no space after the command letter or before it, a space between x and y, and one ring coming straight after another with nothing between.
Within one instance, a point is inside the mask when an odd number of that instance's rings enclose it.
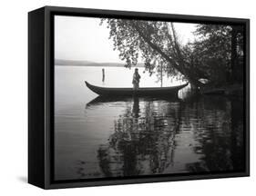
<instances>
[{"instance_id":1,"label":"rippled reflection of the leaning tree in water below the canoe","mask_svg":"<svg viewBox=\"0 0 256 196\"><path fill-rule=\"evenodd\" d=\"M138 97L133 98L132 107L114 122L115 133L108 144L99 148L98 159L106 176L160 173L171 164L180 103L151 100L142 104L140 109Z\"/></svg>"}]
</instances>

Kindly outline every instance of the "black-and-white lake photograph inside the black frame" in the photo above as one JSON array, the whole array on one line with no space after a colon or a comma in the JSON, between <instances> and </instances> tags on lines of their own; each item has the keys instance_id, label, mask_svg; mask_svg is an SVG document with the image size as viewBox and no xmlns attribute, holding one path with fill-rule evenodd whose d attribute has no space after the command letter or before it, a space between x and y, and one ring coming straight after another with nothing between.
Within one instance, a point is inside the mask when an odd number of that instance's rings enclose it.
<instances>
[{"instance_id":1,"label":"black-and-white lake photograph inside the black frame","mask_svg":"<svg viewBox=\"0 0 256 196\"><path fill-rule=\"evenodd\" d=\"M54 16L54 180L245 171L245 26Z\"/></svg>"}]
</instances>

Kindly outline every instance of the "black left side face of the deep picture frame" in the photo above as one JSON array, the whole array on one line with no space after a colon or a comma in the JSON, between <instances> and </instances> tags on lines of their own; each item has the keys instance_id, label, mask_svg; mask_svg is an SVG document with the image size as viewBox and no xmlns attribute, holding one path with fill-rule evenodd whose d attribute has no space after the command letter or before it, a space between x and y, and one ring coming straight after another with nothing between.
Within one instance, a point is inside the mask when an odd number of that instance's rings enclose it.
<instances>
[{"instance_id":1,"label":"black left side face of the deep picture frame","mask_svg":"<svg viewBox=\"0 0 256 196\"><path fill-rule=\"evenodd\" d=\"M28 13L28 183L45 188L45 8Z\"/></svg>"}]
</instances>

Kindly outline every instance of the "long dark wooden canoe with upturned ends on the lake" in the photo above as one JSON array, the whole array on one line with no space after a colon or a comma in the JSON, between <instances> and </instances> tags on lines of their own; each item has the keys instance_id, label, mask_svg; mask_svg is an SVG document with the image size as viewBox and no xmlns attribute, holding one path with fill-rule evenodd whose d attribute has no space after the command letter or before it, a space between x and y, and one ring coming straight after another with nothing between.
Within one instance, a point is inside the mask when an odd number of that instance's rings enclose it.
<instances>
[{"instance_id":1,"label":"long dark wooden canoe with upturned ends on the lake","mask_svg":"<svg viewBox=\"0 0 256 196\"><path fill-rule=\"evenodd\" d=\"M189 83L184 83L178 86L170 87L149 87L149 88L138 88L134 90L133 88L106 88L87 83L87 87L94 93L99 95L108 95L108 96L162 96L162 95L178 95L180 89L187 86Z\"/></svg>"}]
</instances>

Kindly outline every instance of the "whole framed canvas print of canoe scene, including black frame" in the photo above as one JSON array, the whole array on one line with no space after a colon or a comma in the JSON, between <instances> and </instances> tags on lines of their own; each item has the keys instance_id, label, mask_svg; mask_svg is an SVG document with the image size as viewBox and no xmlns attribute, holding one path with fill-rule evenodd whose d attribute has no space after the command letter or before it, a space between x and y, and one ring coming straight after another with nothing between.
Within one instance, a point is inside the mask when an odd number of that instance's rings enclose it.
<instances>
[{"instance_id":1,"label":"whole framed canvas print of canoe scene, including black frame","mask_svg":"<svg viewBox=\"0 0 256 196\"><path fill-rule=\"evenodd\" d=\"M249 19L46 6L28 15L28 181L249 176Z\"/></svg>"}]
</instances>

